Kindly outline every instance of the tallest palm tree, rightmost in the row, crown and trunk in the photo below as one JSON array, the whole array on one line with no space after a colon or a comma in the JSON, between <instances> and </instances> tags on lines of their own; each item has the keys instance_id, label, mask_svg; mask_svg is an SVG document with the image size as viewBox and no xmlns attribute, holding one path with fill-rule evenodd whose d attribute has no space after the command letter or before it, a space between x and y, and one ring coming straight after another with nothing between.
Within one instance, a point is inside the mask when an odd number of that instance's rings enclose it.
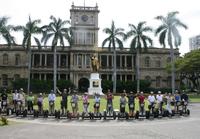
<instances>
[{"instance_id":1,"label":"tallest palm tree, rightmost in the row, crown and trunk","mask_svg":"<svg viewBox=\"0 0 200 139\"><path fill-rule=\"evenodd\" d=\"M181 35L178 27L187 29L187 26L183 24L176 15L179 12L170 12L166 17L157 16L156 19L160 20L162 24L156 29L155 35L159 34L159 42L164 47L167 41L170 46L170 57L171 57L171 76L172 76L172 93L175 91L175 66L174 66L174 45L177 48L181 45ZM173 45L174 44L174 45Z\"/></svg>"}]
</instances>

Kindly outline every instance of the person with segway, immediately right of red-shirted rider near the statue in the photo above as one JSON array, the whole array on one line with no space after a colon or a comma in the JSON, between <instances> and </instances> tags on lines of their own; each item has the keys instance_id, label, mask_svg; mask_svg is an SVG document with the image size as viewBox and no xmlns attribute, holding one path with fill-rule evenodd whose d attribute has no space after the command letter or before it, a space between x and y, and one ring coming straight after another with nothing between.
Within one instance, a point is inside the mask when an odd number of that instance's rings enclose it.
<instances>
[{"instance_id":1,"label":"person with segway, immediately right of red-shirted rider near the statue","mask_svg":"<svg viewBox=\"0 0 200 139\"><path fill-rule=\"evenodd\" d=\"M126 112L125 93L123 93L120 98L120 112L118 113L118 119L129 119L128 113Z\"/></svg>"}]
</instances>

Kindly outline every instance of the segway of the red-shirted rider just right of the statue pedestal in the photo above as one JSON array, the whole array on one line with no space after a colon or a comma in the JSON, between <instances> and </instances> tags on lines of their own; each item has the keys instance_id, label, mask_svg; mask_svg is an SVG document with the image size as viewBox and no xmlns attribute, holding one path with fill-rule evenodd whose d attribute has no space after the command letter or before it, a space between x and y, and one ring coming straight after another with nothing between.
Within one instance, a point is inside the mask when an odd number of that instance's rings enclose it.
<instances>
[{"instance_id":1,"label":"segway of the red-shirted rider just right of the statue pedestal","mask_svg":"<svg viewBox=\"0 0 200 139\"><path fill-rule=\"evenodd\" d=\"M116 119L116 112L113 110L112 104L108 103L107 104L107 110L104 110L103 112L103 118L104 120L106 119Z\"/></svg>"}]
</instances>

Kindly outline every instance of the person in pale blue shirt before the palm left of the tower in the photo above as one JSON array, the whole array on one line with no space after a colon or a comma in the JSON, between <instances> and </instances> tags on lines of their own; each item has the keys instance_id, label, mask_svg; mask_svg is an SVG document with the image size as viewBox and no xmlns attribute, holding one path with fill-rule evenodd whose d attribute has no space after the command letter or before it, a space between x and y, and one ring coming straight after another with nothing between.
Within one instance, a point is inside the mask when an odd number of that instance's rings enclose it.
<instances>
[{"instance_id":1,"label":"person in pale blue shirt before the palm left of the tower","mask_svg":"<svg viewBox=\"0 0 200 139\"><path fill-rule=\"evenodd\" d=\"M52 115L52 114L54 114L55 101L56 101L56 95L53 92L53 90L51 90L49 93L48 101L49 101L49 112Z\"/></svg>"}]
</instances>

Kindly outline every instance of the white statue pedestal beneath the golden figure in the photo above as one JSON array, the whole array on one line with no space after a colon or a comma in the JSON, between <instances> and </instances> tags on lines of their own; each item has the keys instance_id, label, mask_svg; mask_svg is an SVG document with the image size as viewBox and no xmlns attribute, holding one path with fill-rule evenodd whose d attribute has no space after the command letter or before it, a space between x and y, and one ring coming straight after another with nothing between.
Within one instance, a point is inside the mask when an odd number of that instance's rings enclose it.
<instances>
[{"instance_id":1,"label":"white statue pedestal beneath the golden figure","mask_svg":"<svg viewBox=\"0 0 200 139\"><path fill-rule=\"evenodd\" d=\"M101 79L99 78L99 73L90 74L90 86L88 88L89 95L104 95L101 88Z\"/></svg>"}]
</instances>

